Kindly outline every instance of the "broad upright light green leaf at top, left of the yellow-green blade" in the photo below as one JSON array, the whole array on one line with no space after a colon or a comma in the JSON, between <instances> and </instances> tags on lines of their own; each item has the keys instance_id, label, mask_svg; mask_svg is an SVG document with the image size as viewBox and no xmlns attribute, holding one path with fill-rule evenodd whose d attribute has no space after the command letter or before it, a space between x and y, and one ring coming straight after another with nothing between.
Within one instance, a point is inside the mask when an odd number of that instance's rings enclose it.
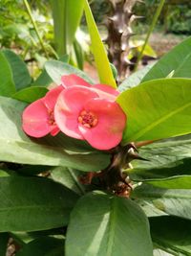
<instances>
[{"instance_id":1,"label":"broad upright light green leaf at top, left of the yellow-green blade","mask_svg":"<svg viewBox=\"0 0 191 256\"><path fill-rule=\"evenodd\" d=\"M83 12L83 0L51 0L53 9L54 41L57 53L67 53L74 42L74 35Z\"/></svg>"}]
</instances>

